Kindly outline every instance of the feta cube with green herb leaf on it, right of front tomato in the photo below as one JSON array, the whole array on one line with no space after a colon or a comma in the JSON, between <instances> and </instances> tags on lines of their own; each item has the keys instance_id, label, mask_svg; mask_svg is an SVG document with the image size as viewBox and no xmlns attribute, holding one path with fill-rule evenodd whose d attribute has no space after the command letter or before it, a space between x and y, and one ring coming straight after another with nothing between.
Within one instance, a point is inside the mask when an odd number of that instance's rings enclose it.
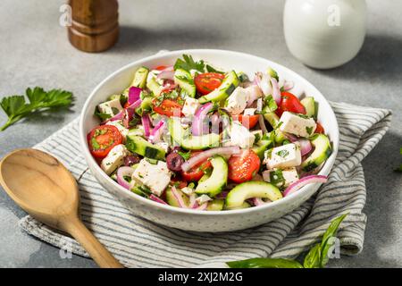
<instances>
[{"instance_id":1,"label":"feta cube with green herb leaf on it, right of front tomato","mask_svg":"<svg viewBox=\"0 0 402 286\"><path fill-rule=\"evenodd\" d=\"M265 151L267 169L295 167L301 164L300 147L295 143L274 147Z\"/></svg>"}]
</instances>

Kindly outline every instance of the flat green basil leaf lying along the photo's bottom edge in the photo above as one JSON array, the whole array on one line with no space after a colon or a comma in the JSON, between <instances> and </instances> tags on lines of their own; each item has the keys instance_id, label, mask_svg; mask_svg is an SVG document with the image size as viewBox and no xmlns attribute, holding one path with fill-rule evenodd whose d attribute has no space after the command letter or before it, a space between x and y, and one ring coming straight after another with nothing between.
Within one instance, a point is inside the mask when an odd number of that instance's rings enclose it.
<instances>
[{"instance_id":1,"label":"flat green basil leaf lying along the photo's bottom edge","mask_svg":"<svg viewBox=\"0 0 402 286\"><path fill-rule=\"evenodd\" d=\"M297 261L283 258L251 258L226 264L230 268L303 268Z\"/></svg>"}]
</instances>

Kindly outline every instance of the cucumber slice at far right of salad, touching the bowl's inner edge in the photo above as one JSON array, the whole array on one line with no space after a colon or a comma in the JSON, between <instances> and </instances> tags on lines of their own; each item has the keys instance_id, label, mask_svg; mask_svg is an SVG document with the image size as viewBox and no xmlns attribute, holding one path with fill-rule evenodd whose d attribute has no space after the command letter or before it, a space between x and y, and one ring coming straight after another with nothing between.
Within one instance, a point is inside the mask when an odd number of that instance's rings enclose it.
<instances>
[{"instance_id":1,"label":"cucumber slice at far right of salad, touching the bowl's inner edge","mask_svg":"<svg viewBox=\"0 0 402 286\"><path fill-rule=\"evenodd\" d=\"M315 134L311 139L311 144L314 147L314 152L302 162L303 171L310 172L321 165L331 156L332 148L330 139L323 134Z\"/></svg>"}]
</instances>

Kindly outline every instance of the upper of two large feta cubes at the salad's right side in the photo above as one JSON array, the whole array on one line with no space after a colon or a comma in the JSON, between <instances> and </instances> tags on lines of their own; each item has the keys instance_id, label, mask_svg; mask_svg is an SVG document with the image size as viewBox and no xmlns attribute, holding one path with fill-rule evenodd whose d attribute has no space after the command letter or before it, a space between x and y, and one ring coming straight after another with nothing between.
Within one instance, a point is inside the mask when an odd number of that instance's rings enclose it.
<instances>
[{"instance_id":1,"label":"upper of two large feta cubes at the salad's right side","mask_svg":"<svg viewBox=\"0 0 402 286\"><path fill-rule=\"evenodd\" d=\"M308 138L314 134L317 124L313 118L305 118L303 115L284 112L280 120L280 130L299 137Z\"/></svg>"}]
</instances>

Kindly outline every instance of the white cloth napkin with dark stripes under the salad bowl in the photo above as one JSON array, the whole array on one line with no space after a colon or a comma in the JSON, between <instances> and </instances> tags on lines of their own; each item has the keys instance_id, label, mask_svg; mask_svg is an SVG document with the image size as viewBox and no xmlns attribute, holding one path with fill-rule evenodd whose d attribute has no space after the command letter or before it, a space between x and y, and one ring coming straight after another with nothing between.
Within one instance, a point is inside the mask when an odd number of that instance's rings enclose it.
<instances>
[{"instance_id":1,"label":"white cloth napkin with dark stripes under the salad bowl","mask_svg":"<svg viewBox=\"0 0 402 286\"><path fill-rule=\"evenodd\" d=\"M359 253L364 243L366 198L361 161L389 128L389 110L331 103L340 131L339 155L329 181L314 198L290 214L244 231L197 233L147 221L121 206L88 172L80 153L78 120L38 144L58 157L80 187L84 223L113 255L128 267L219 267L250 257L297 257L320 239L331 220L349 213L339 229L341 253ZM70 237L29 215L22 229L40 240L80 256L86 251Z\"/></svg>"}]
</instances>

